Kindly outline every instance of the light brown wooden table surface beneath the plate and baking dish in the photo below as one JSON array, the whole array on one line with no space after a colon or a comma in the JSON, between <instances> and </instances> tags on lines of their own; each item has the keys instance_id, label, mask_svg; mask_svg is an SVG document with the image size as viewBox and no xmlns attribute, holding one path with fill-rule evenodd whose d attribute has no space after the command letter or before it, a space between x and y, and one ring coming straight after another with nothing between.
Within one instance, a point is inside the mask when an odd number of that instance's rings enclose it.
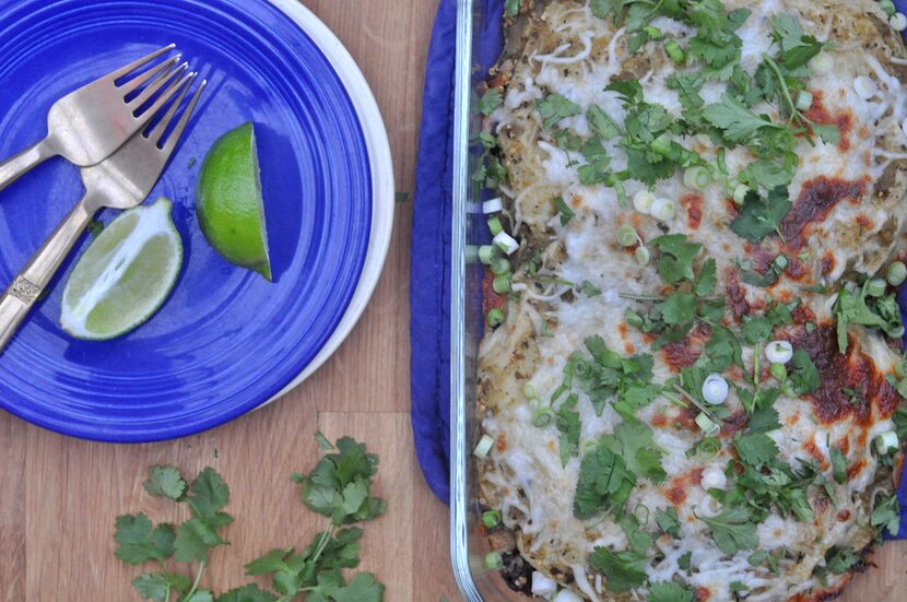
<instances>
[{"instance_id":1,"label":"light brown wooden table surface beneath the plate and baking dish","mask_svg":"<svg viewBox=\"0 0 907 602\"><path fill-rule=\"evenodd\" d=\"M387 121L398 190L411 192L425 55L437 0L306 0L340 37L372 84ZM0 412L0 602L139 600L139 569L114 558L114 519L145 511L176 519L142 491L148 467L187 474L205 465L232 489L228 547L204 586L248 582L243 565L272 547L305 545L322 524L290 475L317 460L313 439L351 435L380 455L378 493L388 512L365 526L363 565L389 602L459 600L448 560L447 508L415 462L410 428L409 249L412 201L398 204L390 256L356 330L309 381L232 424L178 441L113 446L47 433ZM907 544L886 546L848 602L907 600Z\"/></svg>"}]
</instances>

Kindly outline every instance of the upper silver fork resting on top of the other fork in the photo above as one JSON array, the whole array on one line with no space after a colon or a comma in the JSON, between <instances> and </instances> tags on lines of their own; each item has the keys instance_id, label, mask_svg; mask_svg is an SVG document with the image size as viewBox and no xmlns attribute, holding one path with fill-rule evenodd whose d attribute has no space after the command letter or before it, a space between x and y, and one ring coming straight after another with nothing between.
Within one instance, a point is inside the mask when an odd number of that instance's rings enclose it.
<instances>
[{"instance_id":1,"label":"upper silver fork resting on top of the other fork","mask_svg":"<svg viewBox=\"0 0 907 602\"><path fill-rule=\"evenodd\" d=\"M60 155L80 167L96 165L114 154L148 123L161 108L158 99L144 105L169 81L180 56L161 62L132 80L117 82L176 48L155 50L57 101L47 116L47 137L34 146L0 163L0 190L44 161ZM188 63L181 68L188 69ZM142 85L151 82L139 92ZM165 99L166 101L166 99Z\"/></svg>"}]
</instances>

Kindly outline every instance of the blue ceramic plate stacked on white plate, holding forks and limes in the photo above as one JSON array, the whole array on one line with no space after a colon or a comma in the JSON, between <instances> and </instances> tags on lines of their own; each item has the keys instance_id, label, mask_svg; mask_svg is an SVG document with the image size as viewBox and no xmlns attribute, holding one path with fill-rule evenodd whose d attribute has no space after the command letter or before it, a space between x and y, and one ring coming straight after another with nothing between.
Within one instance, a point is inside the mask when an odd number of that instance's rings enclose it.
<instances>
[{"instance_id":1,"label":"blue ceramic plate stacked on white plate, holding forks and limes","mask_svg":"<svg viewBox=\"0 0 907 602\"><path fill-rule=\"evenodd\" d=\"M393 201L374 98L320 22L293 0L21 0L4 3L0 40L0 157L44 137L54 101L166 44L210 82L150 197L174 201L185 246L173 295L122 339L73 340L58 326L70 260L0 356L0 406L78 437L167 439L258 408L326 359L377 281ZM207 151L246 121L273 284L224 261L195 215ZM0 287L81 194L61 160L0 192Z\"/></svg>"}]
</instances>

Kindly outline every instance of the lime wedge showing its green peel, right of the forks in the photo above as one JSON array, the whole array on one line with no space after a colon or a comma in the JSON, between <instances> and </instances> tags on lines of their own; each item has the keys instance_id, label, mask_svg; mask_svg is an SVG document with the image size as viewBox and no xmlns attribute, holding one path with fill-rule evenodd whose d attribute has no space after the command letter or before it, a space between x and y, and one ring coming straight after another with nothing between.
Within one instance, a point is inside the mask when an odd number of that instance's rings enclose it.
<instances>
[{"instance_id":1,"label":"lime wedge showing its green peel, right of the forks","mask_svg":"<svg viewBox=\"0 0 907 602\"><path fill-rule=\"evenodd\" d=\"M255 127L221 137L204 158L196 211L211 246L224 259L271 280Z\"/></svg>"}]
</instances>

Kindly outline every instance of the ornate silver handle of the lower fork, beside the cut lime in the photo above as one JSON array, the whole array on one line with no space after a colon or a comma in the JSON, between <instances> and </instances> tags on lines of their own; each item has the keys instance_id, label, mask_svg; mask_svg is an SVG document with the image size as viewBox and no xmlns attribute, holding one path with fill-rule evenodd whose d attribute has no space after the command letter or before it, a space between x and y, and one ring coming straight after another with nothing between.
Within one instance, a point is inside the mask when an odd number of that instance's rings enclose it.
<instances>
[{"instance_id":1,"label":"ornate silver handle of the lower fork, beside the cut lime","mask_svg":"<svg viewBox=\"0 0 907 602\"><path fill-rule=\"evenodd\" d=\"M69 212L0 299L0 354L94 216L87 197Z\"/></svg>"}]
</instances>

